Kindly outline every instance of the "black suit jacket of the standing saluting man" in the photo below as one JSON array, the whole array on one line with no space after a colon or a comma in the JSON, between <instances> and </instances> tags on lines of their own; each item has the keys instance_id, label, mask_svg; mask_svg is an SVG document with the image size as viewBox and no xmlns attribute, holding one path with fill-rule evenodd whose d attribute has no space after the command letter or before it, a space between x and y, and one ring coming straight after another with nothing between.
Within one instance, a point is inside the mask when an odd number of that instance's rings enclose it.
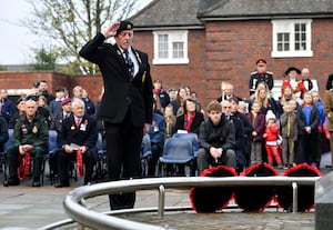
<instances>
[{"instance_id":1,"label":"black suit jacket of the standing saluting man","mask_svg":"<svg viewBox=\"0 0 333 230\"><path fill-rule=\"evenodd\" d=\"M153 86L147 53L132 48L139 72L130 80L120 49L104 40L104 36L98 33L80 51L81 57L97 63L102 72L104 94L98 112L99 118L107 122L121 123L130 110L133 126L151 123Z\"/></svg>"}]
</instances>

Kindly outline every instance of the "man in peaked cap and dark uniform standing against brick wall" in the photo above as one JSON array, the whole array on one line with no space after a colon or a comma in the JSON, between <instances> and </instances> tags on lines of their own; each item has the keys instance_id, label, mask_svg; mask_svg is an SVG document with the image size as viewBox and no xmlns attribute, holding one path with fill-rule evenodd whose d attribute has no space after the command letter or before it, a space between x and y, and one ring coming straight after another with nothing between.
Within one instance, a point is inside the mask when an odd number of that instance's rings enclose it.
<instances>
[{"instance_id":1,"label":"man in peaked cap and dark uniform standing against brick wall","mask_svg":"<svg viewBox=\"0 0 333 230\"><path fill-rule=\"evenodd\" d=\"M266 71L268 62L264 59L259 59L255 64L256 71L251 72L249 81L250 96L255 92L255 89L261 81L264 81L270 90L274 87L273 72Z\"/></svg>"}]
</instances>

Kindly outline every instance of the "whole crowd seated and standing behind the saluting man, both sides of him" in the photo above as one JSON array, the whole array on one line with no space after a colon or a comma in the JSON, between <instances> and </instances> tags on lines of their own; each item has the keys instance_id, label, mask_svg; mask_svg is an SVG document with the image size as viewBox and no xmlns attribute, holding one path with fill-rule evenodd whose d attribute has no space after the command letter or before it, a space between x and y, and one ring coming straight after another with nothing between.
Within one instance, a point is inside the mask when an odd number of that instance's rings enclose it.
<instances>
[{"instance_id":1,"label":"whole crowd seated and standing behind the saluting man, both sides of him","mask_svg":"<svg viewBox=\"0 0 333 230\"><path fill-rule=\"evenodd\" d=\"M198 136L199 151L190 169L191 176L198 176L204 169L220 163L233 167L238 172L261 162L268 162L281 169L300 163L320 167L323 142L329 141L324 134L327 111L325 113L317 88L313 88L307 68L302 70L295 67L286 68L281 97L278 100L271 93L274 87L273 73L266 71L266 61L262 59L256 61L256 71L250 74L248 98L236 96L232 81L222 81L222 97L216 96L216 99L210 101L208 107L200 103L196 93L190 87L164 89L160 79L153 81L153 87L154 113L149 131L152 151L152 157L148 161L149 177L160 176L157 166L159 158L163 154L165 140L178 132ZM26 131L28 134L33 134L34 129L33 127L27 128L24 131L17 126L27 114L27 101L36 101L39 118L46 122L48 130L56 130L59 134L60 153L53 156L53 167L57 167L59 176L56 187L70 186L68 162L78 163L78 152L81 154L83 152L80 163L87 164L83 183L88 184L93 179L93 170L98 161L94 149L97 134L103 133L103 123L97 118L99 104L89 98L88 91L81 86L75 86L71 90L71 96L65 88L58 87L54 96L48 92L46 81L36 82L31 92L19 98L16 103L8 99L7 90L3 89L0 92L1 117L8 128L14 130L13 138L18 144L18 152L24 152L18 138L22 138ZM83 119L78 126L74 121L78 116L73 113L72 103L81 104L80 108L84 110ZM94 123L98 123L97 129L91 131L90 126ZM224 137L225 140L223 140L221 137L224 131L221 130L224 128L222 129L221 126L226 126L232 137ZM83 140L81 138L87 136L88 128L93 137L90 140ZM18 131L21 132L20 136ZM79 138L72 132L79 133ZM63 138L67 136L72 137L73 140L68 142L69 140ZM282 143L278 141L280 138ZM85 151L91 156L84 154ZM64 152L73 153L73 156L67 159L63 157ZM11 158L11 161L14 161L14 158ZM10 162L11 178L7 182L8 186L20 183L18 178L12 178L14 176L11 168L16 169L17 166L19 162ZM36 166L39 167L38 163ZM178 176L185 174L184 166L169 168L169 170L174 170ZM37 173L40 171L33 169L33 173L32 184L38 187L40 183Z\"/></svg>"}]
</instances>

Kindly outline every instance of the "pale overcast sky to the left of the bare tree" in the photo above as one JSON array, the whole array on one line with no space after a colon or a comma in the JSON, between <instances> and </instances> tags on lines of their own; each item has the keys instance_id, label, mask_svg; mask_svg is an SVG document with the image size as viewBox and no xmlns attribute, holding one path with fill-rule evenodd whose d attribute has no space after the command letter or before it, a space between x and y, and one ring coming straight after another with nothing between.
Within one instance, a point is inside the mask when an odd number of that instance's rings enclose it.
<instances>
[{"instance_id":1,"label":"pale overcast sky to the left of the bare tree","mask_svg":"<svg viewBox=\"0 0 333 230\"><path fill-rule=\"evenodd\" d=\"M0 66L31 63L38 47L38 36L31 34L19 21L29 18L30 4L27 0L0 0ZM141 0L148 3L150 0Z\"/></svg>"}]
</instances>

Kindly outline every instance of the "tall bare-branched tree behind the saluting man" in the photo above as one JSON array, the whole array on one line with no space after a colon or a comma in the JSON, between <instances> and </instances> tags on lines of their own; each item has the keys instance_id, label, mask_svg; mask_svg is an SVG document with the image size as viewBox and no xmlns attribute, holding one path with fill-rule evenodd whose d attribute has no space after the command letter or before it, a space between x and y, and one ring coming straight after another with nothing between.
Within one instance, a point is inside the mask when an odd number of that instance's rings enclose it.
<instances>
[{"instance_id":1,"label":"tall bare-branched tree behind the saluting man","mask_svg":"<svg viewBox=\"0 0 333 230\"><path fill-rule=\"evenodd\" d=\"M31 16L23 22L44 43L52 43L71 71L94 74L95 66L82 60L81 47L102 27L125 19L138 8L135 0L27 0Z\"/></svg>"}]
</instances>

